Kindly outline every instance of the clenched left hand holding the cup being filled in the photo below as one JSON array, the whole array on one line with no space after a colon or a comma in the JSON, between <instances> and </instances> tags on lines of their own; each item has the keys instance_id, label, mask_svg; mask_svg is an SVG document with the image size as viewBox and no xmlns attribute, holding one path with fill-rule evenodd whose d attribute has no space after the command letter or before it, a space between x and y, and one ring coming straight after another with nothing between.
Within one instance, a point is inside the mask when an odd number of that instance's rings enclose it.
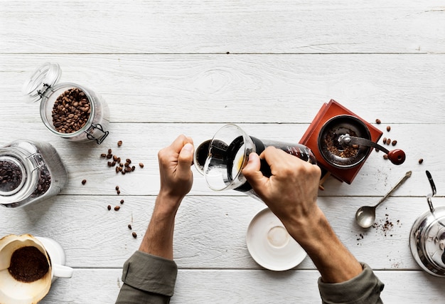
<instances>
[{"instance_id":1,"label":"clenched left hand holding the cup being filled","mask_svg":"<svg viewBox=\"0 0 445 304\"><path fill-rule=\"evenodd\" d=\"M161 179L159 195L173 201L173 204L180 203L191 190L193 150L191 137L180 135L171 145L158 152Z\"/></svg>"}]
</instances>

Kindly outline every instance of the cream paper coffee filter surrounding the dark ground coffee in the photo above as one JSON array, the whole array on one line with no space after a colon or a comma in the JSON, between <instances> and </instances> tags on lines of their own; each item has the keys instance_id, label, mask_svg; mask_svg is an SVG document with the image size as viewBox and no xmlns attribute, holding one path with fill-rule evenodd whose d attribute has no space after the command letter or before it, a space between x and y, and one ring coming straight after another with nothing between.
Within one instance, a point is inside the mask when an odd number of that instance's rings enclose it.
<instances>
[{"instance_id":1,"label":"cream paper coffee filter surrounding the dark ground coffee","mask_svg":"<svg viewBox=\"0 0 445 304\"><path fill-rule=\"evenodd\" d=\"M43 278L32 283L16 281L8 271L11 256L18 248L34 246L48 259L43 245L30 234L16 236L11 234L0 239L0 303L30 304L37 303L50 290L51 266Z\"/></svg>"}]
</instances>

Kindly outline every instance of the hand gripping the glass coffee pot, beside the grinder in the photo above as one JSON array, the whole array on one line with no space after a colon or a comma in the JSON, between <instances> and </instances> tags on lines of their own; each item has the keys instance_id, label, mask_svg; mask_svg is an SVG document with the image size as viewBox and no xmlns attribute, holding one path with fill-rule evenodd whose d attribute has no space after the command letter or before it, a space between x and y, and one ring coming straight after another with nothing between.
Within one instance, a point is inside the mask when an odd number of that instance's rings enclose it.
<instances>
[{"instance_id":1,"label":"hand gripping the glass coffee pot, beside the grinder","mask_svg":"<svg viewBox=\"0 0 445 304\"><path fill-rule=\"evenodd\" d=\"M264 177L260 157L265 159L272 175ZM294 239L303 236L302 227L320 214L316 204L321 169L275 147L267 147L260 156L249 155L242 174L269 209L282 221Z\"/></svg>"}]
</instances>

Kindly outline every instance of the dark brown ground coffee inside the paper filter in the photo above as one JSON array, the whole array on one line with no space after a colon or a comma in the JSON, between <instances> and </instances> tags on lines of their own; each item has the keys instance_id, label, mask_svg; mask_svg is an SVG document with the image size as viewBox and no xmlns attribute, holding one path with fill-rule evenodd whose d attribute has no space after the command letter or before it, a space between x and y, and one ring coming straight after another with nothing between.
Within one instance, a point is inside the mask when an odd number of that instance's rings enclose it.
<instances>
[{"instance_id":1,"label":"dark brown ground coffee inside the paper filter","mask_svg":"<svg viewBox=\"0 0 445 304\"><path fill-rule=\"evenodd\" d=\"M48 270L48 260L34 246L22 247L14 251L8 268L13 278L24 283L31 283L43 278Z\"/></svg>"}]
</instances>

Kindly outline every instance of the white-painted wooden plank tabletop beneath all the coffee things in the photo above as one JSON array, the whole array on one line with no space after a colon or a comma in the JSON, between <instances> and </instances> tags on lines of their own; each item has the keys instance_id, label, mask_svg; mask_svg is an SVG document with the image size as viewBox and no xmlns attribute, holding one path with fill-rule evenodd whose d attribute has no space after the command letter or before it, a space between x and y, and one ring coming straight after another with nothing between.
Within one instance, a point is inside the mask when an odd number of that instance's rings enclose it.
<instances>
[{"instance_id":1,"label":"white-painted wooden plank tabletop beneath all the coffee things","mask_svg":"<svg viewBox=\"0 0 445 304\"><path fill-rule=\"evenodd\" d=\"M24 80L45 61L60 64L62 82L107 101L110 135L102 145L52 135L38 105L23 102ZM395 166L372 152L352 184L328 179L321 208L384 281L385 303L444 303L445 280L421 271L408 243L428 209L426 169L438 191L433 203L445 204L444 0L0 0L0 78L1 145L50 142L69 172L55 198L0 210L1 236L55 239L75 269L43 303L114 303L122 264L139 246L159 189L157 152L177 135L199 144L234 122L255 137L298 142L331 98L368 122L382 120L376 126L407 160ZM144 169L115 174L100 159L108 148ZM212 192L193 170L176 221L171 302L320 303L309 258L272 272L248 253L247 226L264 204ZM377 227L360 229L355 210L375 204L408 170L412 177L377 209ZM120 199L119 211L107 210ZM395 223L390 231L382 229L386 220Z\"/></svg>"}]
</instances>

